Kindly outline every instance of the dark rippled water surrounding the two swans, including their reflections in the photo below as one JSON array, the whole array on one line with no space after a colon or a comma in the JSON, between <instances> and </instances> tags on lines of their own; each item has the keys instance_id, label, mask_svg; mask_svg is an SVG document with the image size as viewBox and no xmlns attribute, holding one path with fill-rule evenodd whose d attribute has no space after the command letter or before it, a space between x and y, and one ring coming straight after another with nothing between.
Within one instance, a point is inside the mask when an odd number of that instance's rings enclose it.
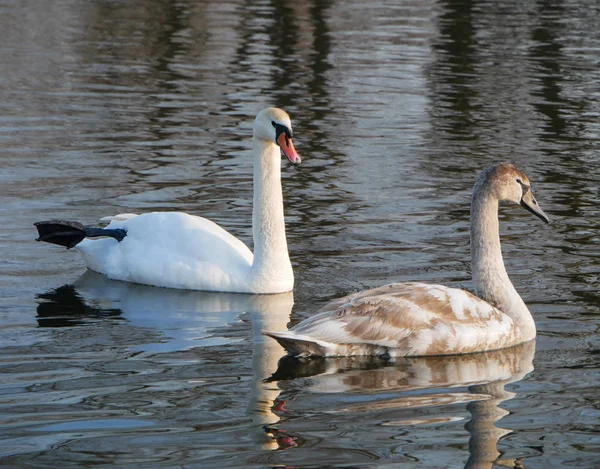
<instances>
[{"instance_id":1,"label":"dark rippled water surrounding the two swans, including their reflections","mask_svg":"<svg viewBox=\"0 0 600 469\"><path fill-rule=\"evenodd\" d=\"M0 466L598 467L599 31L591 0L2 2ZM185 210L251 243L268 105L304 158L293 295L113 282L33 241ZM501 213L535 344L276 372L260 330L332 297L470 288L470 190L498 161L552 218Z\"/></svg>"}]
</instances>

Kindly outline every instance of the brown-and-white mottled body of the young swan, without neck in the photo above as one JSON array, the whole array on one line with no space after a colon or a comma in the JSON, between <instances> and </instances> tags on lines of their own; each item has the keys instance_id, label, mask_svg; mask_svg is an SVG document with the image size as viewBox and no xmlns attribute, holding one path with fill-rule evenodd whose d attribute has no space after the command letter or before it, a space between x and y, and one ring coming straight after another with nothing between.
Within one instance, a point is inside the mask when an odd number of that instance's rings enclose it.
<instances>
[{"instance_id":1,"label":"brown-and-white mottled body of the young swan, without neck","mask_svg":"<svg viewBox=\"0 0 600 469\"><path fill-rule=\"evenodd\" d=\"M508 316L464 290L405 283L334 300L277 336L313 341L326 355L415 356L493 350L515 334Z\"/></svg>"}]
</instances>

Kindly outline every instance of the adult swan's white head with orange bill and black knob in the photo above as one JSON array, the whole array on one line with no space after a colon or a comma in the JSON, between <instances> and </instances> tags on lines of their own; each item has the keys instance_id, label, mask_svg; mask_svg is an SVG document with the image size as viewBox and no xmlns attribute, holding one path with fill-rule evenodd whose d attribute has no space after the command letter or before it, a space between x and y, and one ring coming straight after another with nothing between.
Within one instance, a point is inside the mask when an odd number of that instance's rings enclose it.
<instances>
[{"instance_id":1,"label":"adult swan's white head with orange bill and black knob","mask_svg":"<svg viewBox=\"0 0 600 469\"><path fill-rule=\"evenodd\" d=\"M254 138L279 145L287 159L294 164L302 161L292 143L292 121L282 109L269 107L258 113L254 119Z\"/></svg>"}]
</instances>

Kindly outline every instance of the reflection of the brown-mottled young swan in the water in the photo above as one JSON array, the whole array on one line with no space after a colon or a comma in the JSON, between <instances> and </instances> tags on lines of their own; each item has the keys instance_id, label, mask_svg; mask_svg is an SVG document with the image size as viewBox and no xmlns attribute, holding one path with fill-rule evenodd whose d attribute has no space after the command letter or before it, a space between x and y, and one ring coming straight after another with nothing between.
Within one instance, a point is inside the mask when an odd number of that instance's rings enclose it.
<instances>
[{"instance_id":1,"label":"reflection of the brown-mottled young swan in the water","mask_svg":"<svg viewBox=\"0 0 600 469\"><path fill-rule=\"evenodd\" d=\"M534 353L535 341L530 341L494 352L398 359L393 364L373 357L284 357L277 372L267 381L282 384L296 380L291 383L296 398L309 392L339 393L345 398L358 395L356 400L360 402L356 404L324 410L345 415L347 422L360 421L363 417L368 419L369 413L376 414L373 418L378 420L385 413L396 412L397 415L399 411L406 414L408 410L466 402L471 419L465 425L470 433L465 468L483 469L494 465L523 467L520 459L500 457L497 443L511 430L498 428L494 423L509 413L499 407L500 404L515 396L505 389L505 385L520 381L533 371ZM453 391L457 387L462 389ZM465 387L467 392L464 392ZM424 391L415 392L418 390ZM390 398L390 392L400 396ZM347 402L347 399L344 400ZM294 409L296 418L299 412ZM456 420L455 417L444 417L442 412L424 417L408 413L413 416L378 423L408 427ZM283 422L281 426L284 426Z\"/></svg>"}]
</instances>

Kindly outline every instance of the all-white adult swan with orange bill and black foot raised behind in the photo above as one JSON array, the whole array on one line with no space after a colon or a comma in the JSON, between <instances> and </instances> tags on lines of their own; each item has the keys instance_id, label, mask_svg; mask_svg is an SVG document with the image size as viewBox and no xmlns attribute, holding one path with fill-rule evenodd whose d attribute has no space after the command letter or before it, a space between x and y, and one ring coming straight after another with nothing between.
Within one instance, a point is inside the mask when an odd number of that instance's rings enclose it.
<instances>
[{"instance_id":1,"label":"all-white adult swan with orange bill and black foot raised behind","mask_svg":"<svg viewBox=\"0 0 600 469\"><path fill-rule=\"evenodd\" d=\"M107 217L106 229L74 222L38 222L40 237L76 247L91 270L109 278L169 288L239 293L282 293L294 286L281 192L281 152L294 164L292 124L281 109L254 121L254 254L206 218L181 212ZM103 236L103 239L84 239ZM108 236L108 237L107 237Z\"/></svg>"}]
</instances>

